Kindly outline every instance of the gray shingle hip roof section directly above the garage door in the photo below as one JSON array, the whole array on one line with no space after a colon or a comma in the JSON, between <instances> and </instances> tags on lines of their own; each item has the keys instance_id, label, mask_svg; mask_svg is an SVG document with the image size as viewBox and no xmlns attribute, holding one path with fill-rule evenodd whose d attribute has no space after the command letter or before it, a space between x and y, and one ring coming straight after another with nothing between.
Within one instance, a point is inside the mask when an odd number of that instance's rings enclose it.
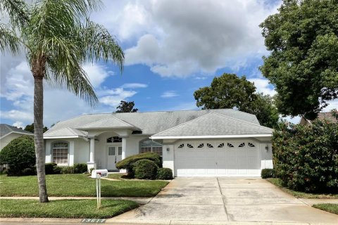
<instances>
[{"instance_id":1,"label":"gray shingle hip roof section directly above the garage door","mask_svg":"<svg viewBox=\"0 0 338 225\"><path fill-rule=\"evenodd\" d=\"M272 134L273 129L253 124L244 120L234 119L219 113L208 113L201 117L180 124L177 127L162 131L151 137L168 136L227 136Z\"/></svg>"}]
</instances>

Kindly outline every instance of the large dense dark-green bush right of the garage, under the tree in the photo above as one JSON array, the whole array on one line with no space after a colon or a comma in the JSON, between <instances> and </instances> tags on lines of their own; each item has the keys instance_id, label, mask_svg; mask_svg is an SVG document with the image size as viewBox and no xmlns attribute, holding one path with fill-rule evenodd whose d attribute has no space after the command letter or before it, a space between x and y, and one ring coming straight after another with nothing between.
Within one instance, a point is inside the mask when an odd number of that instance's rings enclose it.
<instances>
[{"instance_id":1,"label":"large dense dark-green bush right of the garage, under the tree","mask_svg":"<svg viewBox=\"0 0 338 225\"><path fill-rule=\"evenodd\" d=\"M338 193L338 122L283 124L272 141L282 185L295 191Z\"/></svg>"}]
</instances>

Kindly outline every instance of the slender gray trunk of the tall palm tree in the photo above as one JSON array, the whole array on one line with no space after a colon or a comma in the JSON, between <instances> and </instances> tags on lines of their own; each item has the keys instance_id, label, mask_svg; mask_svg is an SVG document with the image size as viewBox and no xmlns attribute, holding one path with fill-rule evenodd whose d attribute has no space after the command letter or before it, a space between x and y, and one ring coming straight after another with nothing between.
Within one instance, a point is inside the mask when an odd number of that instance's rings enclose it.
<instances>
[{"instance_id":1,"label":"slender gray trunk of the tall palm tree","mask_svg":"<svg viewBox=\"0 0 338 225\"><path fill-rule=\"evenodd\" d=\"M33 68L34 70L34 68ZM32 71L33 71L32 70ZM44 70L42 70L44 71ZM46 190L46 172L45 162L46 153L44 151L44 72L41 70L38 75L33 71L34 77L34 142L35 155L37 157L37 181L39 184L39 201L40 203L48 203Z\"/></svg>"}]
</instances>

